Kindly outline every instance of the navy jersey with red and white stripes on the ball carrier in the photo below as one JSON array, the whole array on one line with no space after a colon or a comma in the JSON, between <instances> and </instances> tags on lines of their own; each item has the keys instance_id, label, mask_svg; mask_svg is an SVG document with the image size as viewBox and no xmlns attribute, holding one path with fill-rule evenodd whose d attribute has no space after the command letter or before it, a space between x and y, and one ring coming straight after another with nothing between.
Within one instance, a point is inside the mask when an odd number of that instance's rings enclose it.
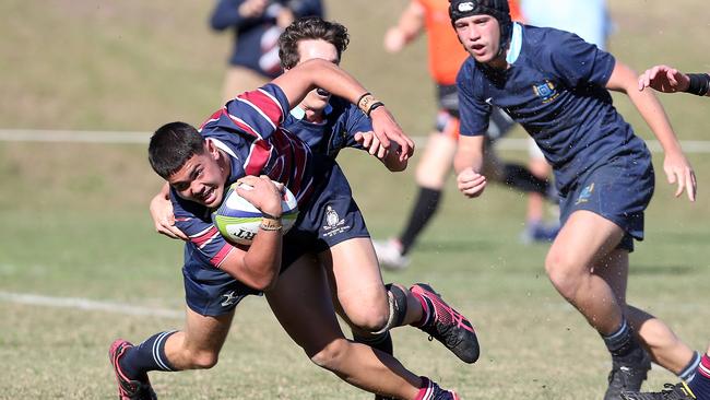
<instances>
[{"instance_id":1,"label":"navy jersey with red and white stripes on the ball carrier","mask_svg":"<svg viewBox=\"0 0 710 400\"><path fill-rule=\"evenodd\" d=\"M200 132L229 156L226 185L245 175L268 175L288 187L303 208L313 191L310 149L281 129L288 101L274 84L240 94L204 122ZM206 207L185 200L170 190L175 224L189 237L186 263L218 267L233 249L212 223ZM208 273L208 272L205 272Z\"/></svg>"}]
</instances>

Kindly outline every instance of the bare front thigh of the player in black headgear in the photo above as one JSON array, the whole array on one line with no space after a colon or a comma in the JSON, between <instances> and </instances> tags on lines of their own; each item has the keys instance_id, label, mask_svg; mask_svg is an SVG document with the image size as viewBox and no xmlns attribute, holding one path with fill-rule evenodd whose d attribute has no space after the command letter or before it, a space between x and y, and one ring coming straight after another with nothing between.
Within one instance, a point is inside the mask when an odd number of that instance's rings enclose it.
<instances>
[{"instance_id":1,"label":"bare front thigh of the player in black headgear","mask_svg":"<svg viewBox=\"0 0 710 400\"><path fill-rule=\"evenodd\" d=\"M555 237L545 261L548 272L589 273L624 237L624 231L605 217L588 211L572 212ZM563 271L553 271L563 272Z\"/></svg>"}]
</instances>

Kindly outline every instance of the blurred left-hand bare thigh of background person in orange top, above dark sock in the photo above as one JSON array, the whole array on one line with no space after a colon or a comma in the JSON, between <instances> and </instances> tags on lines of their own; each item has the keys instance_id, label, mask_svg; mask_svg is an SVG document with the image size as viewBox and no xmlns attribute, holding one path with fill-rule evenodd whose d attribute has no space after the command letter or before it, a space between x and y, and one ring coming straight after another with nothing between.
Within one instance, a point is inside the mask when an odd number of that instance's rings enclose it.
<instances>
[{"instance_id":1,"label":"blurred left-hand bare thigh of background person in orange top, above dark sock","mask_svg":"<svg viewBox=\"0 0 710 400\"><path fill-rule=\"evenodd\" d=\"M429 189L443 187L452 167L455 150L455 139L443 133L431 133L416 167L417 184Z\"/></svg>"}]
</instances>

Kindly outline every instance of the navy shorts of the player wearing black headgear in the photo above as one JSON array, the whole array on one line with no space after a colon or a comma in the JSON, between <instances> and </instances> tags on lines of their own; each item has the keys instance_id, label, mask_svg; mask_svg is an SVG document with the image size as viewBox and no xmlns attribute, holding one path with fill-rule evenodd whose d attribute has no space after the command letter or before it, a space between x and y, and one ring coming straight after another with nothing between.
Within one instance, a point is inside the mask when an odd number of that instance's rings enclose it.
<instances>
[{"instance_id":1,"label":"navy shorts of the player wearing black headgear","mask_svg":"<svg viewBox=\"0 0 710 400\"><path fill-rule=\"evenodd\" d=\"M617 248L634 251L634 239L643 240L643 211L654 186L648 152L616 156L585 172L560 195L560 222L575 211L591 211L622 227L625 235Z\"/></svg>"}]
</instances>

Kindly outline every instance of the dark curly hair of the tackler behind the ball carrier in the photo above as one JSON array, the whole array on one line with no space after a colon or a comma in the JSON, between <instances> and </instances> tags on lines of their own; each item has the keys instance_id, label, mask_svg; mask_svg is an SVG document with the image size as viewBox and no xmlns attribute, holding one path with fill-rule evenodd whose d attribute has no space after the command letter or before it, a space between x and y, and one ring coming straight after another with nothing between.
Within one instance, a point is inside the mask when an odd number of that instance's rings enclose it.
<instances>
[{"instance_id":1,"label":"dark curly hair of the tackler behind the ball carrier","mask_svg":"<svg viewBox=\"0 0 710 400\"><path fill-rule=\"evenodd\" d=\"M336 22L323 21L317 16L298 19L279 37L279 58L281 67L292 69L300 61L298 43L300 40L321 39L335 46L338 59L347 48L350 35L347 28Z\"/></svg>"}]
</instances>

